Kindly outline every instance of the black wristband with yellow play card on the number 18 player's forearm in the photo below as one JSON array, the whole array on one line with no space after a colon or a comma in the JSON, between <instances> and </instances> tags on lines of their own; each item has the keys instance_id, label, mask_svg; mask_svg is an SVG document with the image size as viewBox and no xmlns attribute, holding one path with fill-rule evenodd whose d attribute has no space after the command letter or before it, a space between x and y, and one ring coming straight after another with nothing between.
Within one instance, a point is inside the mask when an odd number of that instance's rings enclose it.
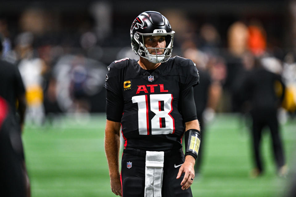
<instances>
[{"instance_id":1,"label":"black wristband with yellow play card on the number 18 player's forearm","mask_svg":"<svg viewBox=\"0 0 296 197\"><path fill-rule=\"evenodd\" d=\"M201 134L197 129L189 129L185 132L185 157L191 155L197 158L200 140Z\"/></svg>"}]
</instances>

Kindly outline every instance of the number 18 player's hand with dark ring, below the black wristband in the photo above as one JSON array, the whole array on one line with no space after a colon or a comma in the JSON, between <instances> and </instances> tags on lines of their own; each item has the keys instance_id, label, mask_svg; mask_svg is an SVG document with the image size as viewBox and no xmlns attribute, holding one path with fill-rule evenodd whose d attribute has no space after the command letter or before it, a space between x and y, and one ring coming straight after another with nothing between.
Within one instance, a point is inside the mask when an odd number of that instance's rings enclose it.
<instances>
[{"instance_id":1,"label":"number 18 player's hand with dark ring, below the black wristband","mask_svg":"<svg viewBox=\"0 0 296 197\"><path fill-rule=\"evenodd\" d=\"M181 175L185 172L184 179L181 182L182 190L188 189L193 183L194 175L194 164L195 159L191 155L187 155L185 158L185 162L179 169L179 173L177 175L177 179L181 177Z\"/></svg>"}]
</instances>

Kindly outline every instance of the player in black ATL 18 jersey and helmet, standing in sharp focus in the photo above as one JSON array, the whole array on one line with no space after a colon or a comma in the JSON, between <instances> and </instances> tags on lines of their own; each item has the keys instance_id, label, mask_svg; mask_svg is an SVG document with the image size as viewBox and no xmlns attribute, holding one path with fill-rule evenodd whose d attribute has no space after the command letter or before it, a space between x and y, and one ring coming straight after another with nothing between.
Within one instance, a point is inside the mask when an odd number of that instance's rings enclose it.
<instances>
[{"instance_id":1,"label":"player in black ATL 18 jersey and helmet, standing in sharp focus","mask_svg":"<svg viewBox=\"0 0 296 197\"><path fill-rule=\"evenodd\" d=\"M200 143L193 86L199 74L191 60L171 58L174 33L162 14L143 12L130 29L140 59L108 66L105 152L116 195L192 196ZM125 139L121 174L120 127Z\"/></svg>"}]
</instances>

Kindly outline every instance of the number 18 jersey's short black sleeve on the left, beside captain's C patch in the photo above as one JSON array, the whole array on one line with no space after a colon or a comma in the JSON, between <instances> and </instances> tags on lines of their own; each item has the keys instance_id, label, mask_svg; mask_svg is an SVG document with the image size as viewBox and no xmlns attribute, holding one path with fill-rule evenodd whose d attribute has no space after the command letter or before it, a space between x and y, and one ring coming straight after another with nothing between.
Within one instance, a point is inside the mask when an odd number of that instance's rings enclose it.
<instances>
[{"instance_id":1,"label":"number 18 jersey's short black sleeve on the left, beside captain's C patch","mask_svg":"<svg viewBox=\"0 0 296 197\"><path fill-rule=\"evenodd\" d=\"M121 94L119 77L119 69L117 69L114 62L112 62L110 66L108 66L108 73L106 74L104 87L117 95Z\"/></svg>"}]
</instances>

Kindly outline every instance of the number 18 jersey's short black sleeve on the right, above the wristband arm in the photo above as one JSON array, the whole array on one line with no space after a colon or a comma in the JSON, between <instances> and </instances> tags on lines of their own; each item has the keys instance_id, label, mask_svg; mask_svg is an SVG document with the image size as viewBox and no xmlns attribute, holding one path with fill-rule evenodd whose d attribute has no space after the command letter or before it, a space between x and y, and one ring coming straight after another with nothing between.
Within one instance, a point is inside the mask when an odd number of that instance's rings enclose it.
<instances>
[{"instance_id":1,"label":"number 18 jersey's short black sleeve on the right, above the wristband arm","mask_svg":"<svg viewBox=\"0 0 296 197\"><path fill-rule=\"evenodd\" d=\"M199 73L195 63L190 59L178 58L180 69L180 82L183 89L188 89L191 86L199 84Z\"/></svg>"}]
</instances>

